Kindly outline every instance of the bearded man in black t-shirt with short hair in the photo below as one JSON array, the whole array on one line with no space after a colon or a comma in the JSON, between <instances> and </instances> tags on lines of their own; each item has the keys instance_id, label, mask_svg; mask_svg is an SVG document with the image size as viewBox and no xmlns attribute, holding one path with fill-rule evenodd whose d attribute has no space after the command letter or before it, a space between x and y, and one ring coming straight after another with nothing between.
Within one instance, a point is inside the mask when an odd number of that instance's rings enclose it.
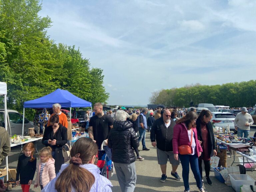
<instances>
[{"instance_id":1,"label":"bearded man in black t-shirt with short hair","mask_svg":"<svg viewBox=\"0 0 256 192\"><path fill-rule=\"evenodd\" d=\"M104 140L108 139L108 133L113 128L113 118L109 115L104 115L103 106L101 103L95 103L93 111L95 115L89 121L88 133L89 137L97 143L99 149ZM107 145L107 143L106 143Z\"/></svg>"}]
</instances>

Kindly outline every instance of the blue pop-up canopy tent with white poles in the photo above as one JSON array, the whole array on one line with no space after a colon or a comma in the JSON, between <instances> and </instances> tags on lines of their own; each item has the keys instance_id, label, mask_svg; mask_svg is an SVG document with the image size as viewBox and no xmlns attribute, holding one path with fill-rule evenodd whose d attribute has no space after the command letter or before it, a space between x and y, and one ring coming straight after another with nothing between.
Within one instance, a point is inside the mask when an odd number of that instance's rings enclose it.
<instances>
[{"instance_id":1,"label":"blue pop-up canopy tent with white poles","mask_svg":"<svg viewBox=\"0 0 256 192\"><path fill-rule=\"evenodd\" d=\"M67 90L56 89L54 92L34 99L31 101L24 102L23 106L23 125L22 125L22 136L24 131L24 118L25 118L25 108L52 108L54 103L59 103L61 107L69 107L71 112L71 107L91 107L92 103L85 101ZM71 113L70 113L71 114ZM71 118L71 117L70 117Z\"/></svg>"}]
</instances>

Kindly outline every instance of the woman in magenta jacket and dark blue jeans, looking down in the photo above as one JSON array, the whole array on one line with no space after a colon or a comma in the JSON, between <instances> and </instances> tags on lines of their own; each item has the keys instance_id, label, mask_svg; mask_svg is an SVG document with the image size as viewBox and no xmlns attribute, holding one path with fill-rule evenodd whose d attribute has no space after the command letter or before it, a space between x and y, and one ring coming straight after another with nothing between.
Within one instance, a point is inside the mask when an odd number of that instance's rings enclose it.
<instances>
[{"instance_id":1,"label":"woman in magenta jacket and dark blue jeans, looking down","mask_svg":"<svg viewBox=\"0 0 256 192\"><path fill-rule=\"evenodd\" d=\"M195 112L188 112L184 117L176 121L176 125L173 128L173 153L174 159L180 159L182 165L182 178L185 187L185 192L189 192L189 164L191 170L196 179L196 185L201 192L204 192L201 176L198 168L198 157L202 153L202 147L197 139L196 131L196 119L197 114ZM191 145L191 154L181 155L179 153L178 147L181 145L190 146L192 134L192 145Z\"/></svg>"}]
</instances>

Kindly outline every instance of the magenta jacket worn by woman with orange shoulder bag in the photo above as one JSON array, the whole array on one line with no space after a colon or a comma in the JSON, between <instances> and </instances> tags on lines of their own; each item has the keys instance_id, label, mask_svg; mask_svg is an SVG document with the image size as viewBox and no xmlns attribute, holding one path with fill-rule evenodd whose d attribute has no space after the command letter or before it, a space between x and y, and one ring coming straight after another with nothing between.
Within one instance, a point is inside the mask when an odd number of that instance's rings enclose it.
<instances>
[{"instance_id":1,"label":"magenta jacket worn by woman with orange shoulder bag","mask_svg":"<svg viewBox=\"0 0 256 192\"><path fill-rule=\"evenodd\" d=\"M198 142L196 128L192 128L192 130L195 134L196 154L199 157L199 152L203 152L203 150L200 143ZM173 128L172 146L174 154L179 153L178 146L180 145L190 145L188 138L188 130L185 126L185 123L177 123Z\"/></svg>"}]
</instances>

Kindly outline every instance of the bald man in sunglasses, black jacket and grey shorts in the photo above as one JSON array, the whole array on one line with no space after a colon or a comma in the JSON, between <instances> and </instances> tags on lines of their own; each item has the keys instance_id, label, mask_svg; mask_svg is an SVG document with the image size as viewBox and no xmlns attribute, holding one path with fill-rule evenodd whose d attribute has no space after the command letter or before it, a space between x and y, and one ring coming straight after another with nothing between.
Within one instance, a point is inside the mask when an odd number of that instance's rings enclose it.
<instances>
[{"instance_id":1,"label":"bald man in sunglasses, black jacket and grey shorts","mask_svg":"<svg viewBox=\"0 0 256 192\"><path fill-rule=\"evenodd\" d=\"M177 181L181 181L177 173L180 161L174 159L172 138L173 138L173 127L176 125L173 118L171 118L171 112L164 110L162 117L155 120L151 128L150 139L153 147L157 148L157 161L162 171L161 182L165 182L167 179L166 168L167 160L169 159L172 164L171 175L175 177Z\"/></svg>"}]
</instances>

